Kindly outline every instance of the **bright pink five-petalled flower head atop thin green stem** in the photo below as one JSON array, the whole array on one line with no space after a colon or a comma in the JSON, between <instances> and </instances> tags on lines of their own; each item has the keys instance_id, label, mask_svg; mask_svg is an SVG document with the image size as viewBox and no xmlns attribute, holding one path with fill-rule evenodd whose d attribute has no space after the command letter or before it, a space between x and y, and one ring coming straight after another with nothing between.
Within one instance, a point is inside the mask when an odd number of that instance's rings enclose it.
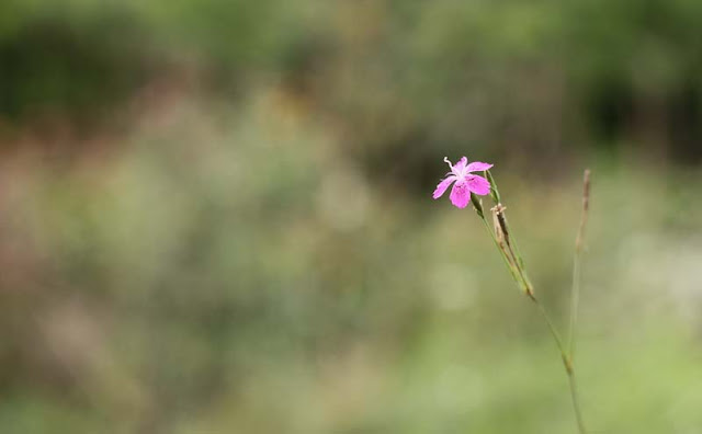
<instances>
[{"instance_id":1,"label":"bright pink five-petalled flower head atop thin green stem","mask_svg":"<svg viewBox=\"0 0 702 434\"><path fill-rule=\"evenodd\" d=\"M445 161L451 168L451 172L446 173L448 176L437 185L434 190L434 198L439 198L449 189L453 182L453 189L451 189L451 203L458 208L465 208L471 202L471 192L485 196L490 193L490 183L483 176L472 174L471 172L477 172L488 170L492 164L474 161L468 164L468 159L463 157L457 163L451 164L451 161L444 157Z\"/></svg>"}]
</instances>

